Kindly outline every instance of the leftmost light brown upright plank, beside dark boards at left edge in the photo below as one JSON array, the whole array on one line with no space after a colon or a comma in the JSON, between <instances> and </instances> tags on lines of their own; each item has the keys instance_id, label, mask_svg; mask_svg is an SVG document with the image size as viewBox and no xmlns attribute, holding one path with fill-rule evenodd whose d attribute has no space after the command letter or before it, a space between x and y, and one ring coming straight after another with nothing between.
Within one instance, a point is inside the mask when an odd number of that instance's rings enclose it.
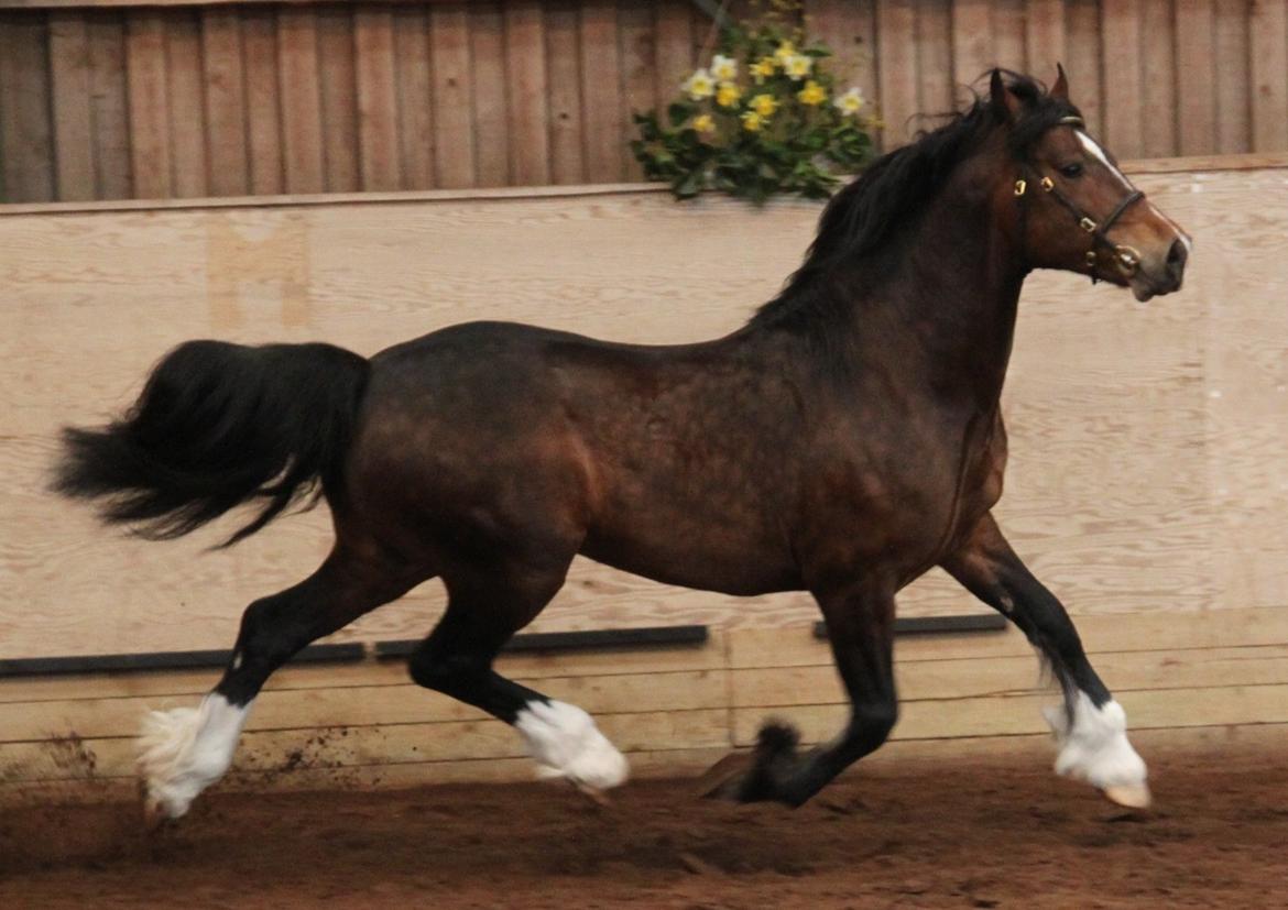
<instances>
[{"instance_id":1,"label":"leftmost light brown upright plank, beside dark boards at left edge","mask_svg":"<svg viewBox=\"0 0 1288 910\"><path fill-rule=\"evenodd\" d=\"M57 198L93 200L94 111L89 30L82 13L49 14L49 70L53 99Z\"/></svg>"}]
</instances>

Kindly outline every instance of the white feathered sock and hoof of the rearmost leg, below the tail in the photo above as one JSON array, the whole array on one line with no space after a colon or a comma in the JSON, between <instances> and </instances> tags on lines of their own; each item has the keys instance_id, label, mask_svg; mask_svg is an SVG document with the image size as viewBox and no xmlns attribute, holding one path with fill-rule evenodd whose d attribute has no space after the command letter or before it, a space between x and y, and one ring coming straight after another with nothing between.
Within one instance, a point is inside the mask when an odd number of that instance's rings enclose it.
<instances>
[{"instance_id":1,"label":"white feathered sock and hoof of the rearmost leg, below the tail","mask_svg":"<svg viewBox=\"0 0 1288 910\"><path fill-rule=\"evenodd\" d=\"M153 710L143 720L138 766L149 815L180 817L224 776L249 709L207 695L197 708Z\"/></svg>"}]
</instances>

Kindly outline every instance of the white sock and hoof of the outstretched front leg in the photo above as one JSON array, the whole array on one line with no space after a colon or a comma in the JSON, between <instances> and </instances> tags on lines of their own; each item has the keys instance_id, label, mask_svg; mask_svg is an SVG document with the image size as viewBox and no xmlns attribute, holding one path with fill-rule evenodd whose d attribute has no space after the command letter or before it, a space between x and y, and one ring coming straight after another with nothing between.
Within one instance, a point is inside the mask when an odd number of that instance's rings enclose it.
<instances>
[{"instance_id":1,"label":"white sock and hoof of the outstretched front leg","mask_svg":"<svg viewBox=\"0 0 1288 910\"><path fill-rule=\"evenodd\" d=\"M1117 701L1100 708L1086 692L1073 704L1073 722L1063 707L1043 708L1060 744L1055 759L1059 775L1084 780L1122 806L1149 804L1145 762L1127 741L1127 714Z\"/></svg>"}]
</instances>

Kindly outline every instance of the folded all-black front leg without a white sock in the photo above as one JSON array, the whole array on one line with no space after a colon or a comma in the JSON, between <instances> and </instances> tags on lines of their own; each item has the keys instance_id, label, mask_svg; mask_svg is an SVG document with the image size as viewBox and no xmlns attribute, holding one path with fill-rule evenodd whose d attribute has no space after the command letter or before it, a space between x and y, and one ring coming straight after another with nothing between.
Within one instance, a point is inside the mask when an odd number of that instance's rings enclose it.
<instances>
[{"instance_id":1,"label":"folded all-black front leg without a white sock","mask_svg":"<svg viewBox=\"0 0 1288 910\"><path fill-rule=\"evenodd\" d=\"M720 785L714 795L800 806L890 735L899 716L891 664L894 595L886 588L859 586L815 592L815 597L850 696L845 730L831 743L799 756L796 731L768 723L761 727L751 770Z\"/></svg>"}]
</instances>

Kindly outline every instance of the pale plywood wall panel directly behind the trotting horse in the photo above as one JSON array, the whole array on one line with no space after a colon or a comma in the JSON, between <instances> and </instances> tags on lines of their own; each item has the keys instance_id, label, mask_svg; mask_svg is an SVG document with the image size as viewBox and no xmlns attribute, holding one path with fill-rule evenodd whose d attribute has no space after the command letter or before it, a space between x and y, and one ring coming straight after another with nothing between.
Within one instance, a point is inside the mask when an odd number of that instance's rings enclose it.
<instances>
[{"instance_id":1,"label":"pale plywood wall panel directly behind the trotting horse","mask_svg":"<svg viewBox=\"0 0 1288 910\"><path fill-rule=\"evenodd\" d=\"M1197 241L1182 293L1142 308L1056 273L1025 288L999 515L1078 614L1288 605L1285 163L1139 174ZM322 511L204 552L220 529L142 543L44 490L58 427L128 404L171 345L372 354L470 318L715 337L775 292L818 215L656 188L54 209L0 210L0 658L228 647L245 604L325 555ZM340 638L417 637L440 608L430 583ZM960 609L978 606L942 578L902 599L909 615ZM802 596L721 597L578 562L536 628L814 617Z\"/></svg>"}]
</instances>

